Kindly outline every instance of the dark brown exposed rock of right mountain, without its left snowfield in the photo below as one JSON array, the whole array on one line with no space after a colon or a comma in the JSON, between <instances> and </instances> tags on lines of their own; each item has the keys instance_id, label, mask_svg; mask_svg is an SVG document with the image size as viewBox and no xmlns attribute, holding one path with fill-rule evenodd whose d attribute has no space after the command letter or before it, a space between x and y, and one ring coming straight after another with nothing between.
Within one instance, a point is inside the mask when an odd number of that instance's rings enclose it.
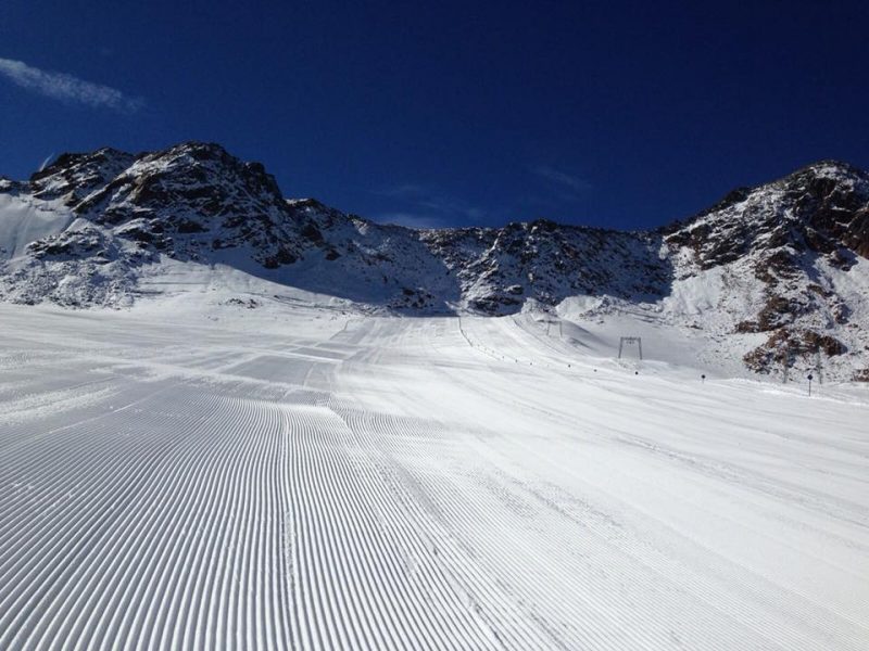
<instances>
[{"instance_id":1,"label":"dark brown exposed rock of right mountain, without its left snowfield","mask_svg":"<svg viewBox=\"0 0 869 651\"><path fill-rule=\"evenodd\" d=\"M745 361L771 372L794 357L847 352L826 332L849 324L853 309L836 291L835 270L847 272L869 253L868 212L869 175L828 161L734 191L667 229L665 241L693 253L682 272L739 265L759 281L758 308L735 331L769 333Z\"/></svg>"}]
</instances>

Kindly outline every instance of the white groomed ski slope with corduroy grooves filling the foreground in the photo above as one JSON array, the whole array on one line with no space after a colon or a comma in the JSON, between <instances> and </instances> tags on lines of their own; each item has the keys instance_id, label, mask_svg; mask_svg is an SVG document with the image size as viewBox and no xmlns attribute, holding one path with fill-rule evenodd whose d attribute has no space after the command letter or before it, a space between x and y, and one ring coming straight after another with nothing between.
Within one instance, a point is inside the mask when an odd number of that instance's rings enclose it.
<instances>
[{"instance_id":1,"label":"white groomed ski slope with corduroy grooves filling the foreground","mask_svg":"<svg viewBox=\"0 0 869 651\"><path fill-rule=\"evenodd\" d=\"M865 391L179 305L0 306L0 649L869 648Z\"/></svg>"}]
</instances>

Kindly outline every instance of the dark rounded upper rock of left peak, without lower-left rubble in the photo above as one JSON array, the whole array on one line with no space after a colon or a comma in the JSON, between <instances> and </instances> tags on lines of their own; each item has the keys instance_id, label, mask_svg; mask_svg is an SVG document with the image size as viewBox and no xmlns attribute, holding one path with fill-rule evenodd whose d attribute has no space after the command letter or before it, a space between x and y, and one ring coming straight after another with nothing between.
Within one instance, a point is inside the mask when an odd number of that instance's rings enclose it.
<instances>
[{"instance_id":1,"label":"dark rounded upper rock of left peak, without lower-left rubble","mask_svg":"<svg viewBox=\"0 0 869 651\"><path fill-rule=\"evenodd\" d=\"M75 214L140 250L196 260L209 250L247 245L252 259L268 268L301 253L292 240L305 225L289 218L275 179L216 144L186 143L135 157L112 150L62 156L32 183L35 196L65 193Z\"/></svg>"}]
</instances>

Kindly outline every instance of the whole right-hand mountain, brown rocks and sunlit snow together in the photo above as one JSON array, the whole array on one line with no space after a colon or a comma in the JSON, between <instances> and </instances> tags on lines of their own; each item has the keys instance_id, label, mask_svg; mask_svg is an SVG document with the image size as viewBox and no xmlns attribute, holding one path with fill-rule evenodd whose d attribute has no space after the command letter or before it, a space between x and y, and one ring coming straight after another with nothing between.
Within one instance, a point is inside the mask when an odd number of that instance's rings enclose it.
<instances>
[{"instance_id":1,"label":"whole right-hand mountain, brown rocks and sunlit snow together","mask_svg":"<svg viewBox=\"0 0 869 651\"><path fill-rule=\"evenodd\" d=\"M754 370L866 369L869 337L869 175L837 162L743 188L664 230L673 295L704 288L703 328L747 335ZM665 303L667 301L665 299ZM695 304L692 306L700 308ZM756 344L756 345L755 345ZM843 374L840 372L840 375ZM846 374L846 373L845 373Z\"/></svg>"}]
</instances>

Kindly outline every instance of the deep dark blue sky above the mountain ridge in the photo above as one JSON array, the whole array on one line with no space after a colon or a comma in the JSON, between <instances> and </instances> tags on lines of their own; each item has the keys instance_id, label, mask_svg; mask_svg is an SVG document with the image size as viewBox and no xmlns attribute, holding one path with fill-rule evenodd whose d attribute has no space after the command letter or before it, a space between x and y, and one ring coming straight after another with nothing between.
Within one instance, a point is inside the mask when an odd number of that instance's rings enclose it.
<instances>
[{"instance_id":1,"label":"deep dark blue sky above the mountain ridge","mask_svg":"<svg viewBox=\"0 0 869 651\"><path fill-rule=\"evenodd\" d=\"M653 227L869 167L866 8L7 0L0 175L197 139L380 220Z\"/></svg>"}]
</instances>

